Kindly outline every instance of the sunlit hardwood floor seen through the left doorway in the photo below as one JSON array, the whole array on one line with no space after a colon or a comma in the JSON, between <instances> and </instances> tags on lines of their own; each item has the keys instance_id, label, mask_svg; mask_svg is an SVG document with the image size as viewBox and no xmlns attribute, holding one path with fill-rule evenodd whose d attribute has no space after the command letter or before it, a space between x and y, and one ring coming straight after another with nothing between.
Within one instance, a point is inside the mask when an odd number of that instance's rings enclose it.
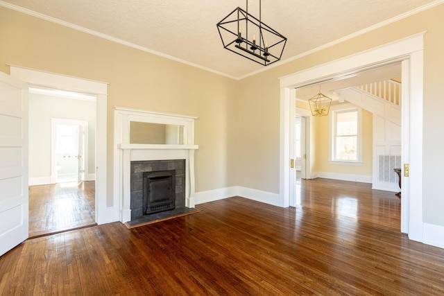
<instances>
[{"instance_id":1,"label":"sunlit hardwood floor seen through the left doorway","mask_svg":"<svg viewBox=\"0 0 444 296\"><path fill-rule=\"evenodd\" d=\"M95 225L95 182L29 186L29 236Z\"/></svg>"}]
</instances>

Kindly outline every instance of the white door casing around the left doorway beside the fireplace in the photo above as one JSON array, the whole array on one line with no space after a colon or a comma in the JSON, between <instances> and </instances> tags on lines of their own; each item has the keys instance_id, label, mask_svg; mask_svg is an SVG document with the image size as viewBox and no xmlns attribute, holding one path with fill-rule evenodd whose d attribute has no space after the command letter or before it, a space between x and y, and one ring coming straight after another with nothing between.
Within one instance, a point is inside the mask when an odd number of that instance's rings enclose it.
<instances>
[{"instance_id":1,"label":"white door casing around the left doorway beside the fireplace","mask_svg":"<svg viewBox=\"0 0 444 296\"><path fill-rule=\"evenodd\" d=\"M117 221L118 212L114 210L116 205L108 207L106 194L108 84L25 67L9 66L10 76L27 82L29 85L96 96L96 223L104 224Z\"/></svg>"}]
</instances>

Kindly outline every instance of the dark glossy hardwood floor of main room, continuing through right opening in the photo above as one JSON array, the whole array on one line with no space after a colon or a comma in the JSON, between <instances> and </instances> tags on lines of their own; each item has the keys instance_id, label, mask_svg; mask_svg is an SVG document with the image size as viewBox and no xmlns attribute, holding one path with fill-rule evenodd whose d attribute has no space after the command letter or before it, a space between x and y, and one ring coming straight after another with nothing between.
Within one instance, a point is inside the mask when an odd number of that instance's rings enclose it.
<instances>
[{"instance_id":1,"label":"dark glossy hardwood floor of main room, continuing through right opening","mask_svg":"<svg viewBox=\"0 0 444 296\"><path fill-rule=\"evenodd\" d=\"M444 295L444 250L400 233L393 193L317 179L299 198L33 238L0 257L0 294Z\"/></svg>"}]
</instances>

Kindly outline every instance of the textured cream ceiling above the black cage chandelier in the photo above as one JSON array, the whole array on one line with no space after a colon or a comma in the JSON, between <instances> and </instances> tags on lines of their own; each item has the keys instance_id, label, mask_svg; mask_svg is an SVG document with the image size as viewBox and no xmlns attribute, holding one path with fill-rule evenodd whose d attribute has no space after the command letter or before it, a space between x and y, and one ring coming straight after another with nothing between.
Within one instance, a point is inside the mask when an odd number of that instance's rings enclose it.
<instances>
[{"instance_id":1,"label":"textured cream ceiling above the black cage chandelier","mask_svg":"<svg viewBox=\"0 0 444 296\"><path fill-rule=\"evenodd\" d=\"M282 63L438 2L443 1L264 0L262 21L288 38ZM232 78L264 69L223 49L216 28L234 8L246 9L244 0L6 0L0 5L25 8ZM259 17L259 0L248 1L248 10Z\"/></svg>"}]
</instances>

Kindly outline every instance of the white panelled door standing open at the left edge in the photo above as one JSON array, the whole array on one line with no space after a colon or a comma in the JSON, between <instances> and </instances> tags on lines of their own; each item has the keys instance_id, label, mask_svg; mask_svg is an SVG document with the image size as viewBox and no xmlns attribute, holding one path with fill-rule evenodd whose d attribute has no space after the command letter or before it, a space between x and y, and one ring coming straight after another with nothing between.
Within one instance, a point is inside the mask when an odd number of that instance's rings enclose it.
<instances>
[{"instance_id":1,"label":"white panelled door standing open at the left edge","mask_svg":"<svg viewBox=\"0 0 444 296\"><path fill-rule=\"evenodd\" d=\"M28 228L28 85L0 72L0 255Z\"/></svg>"}]
</instances>

